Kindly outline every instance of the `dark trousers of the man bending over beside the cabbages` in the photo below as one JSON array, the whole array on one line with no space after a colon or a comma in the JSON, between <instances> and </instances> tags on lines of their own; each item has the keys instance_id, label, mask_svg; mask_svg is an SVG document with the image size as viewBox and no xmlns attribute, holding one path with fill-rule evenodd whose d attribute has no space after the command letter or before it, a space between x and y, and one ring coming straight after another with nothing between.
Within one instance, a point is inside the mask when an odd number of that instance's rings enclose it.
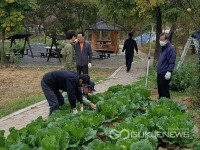
<instances>
[{"instance_id":1,"label":"dark trousers of the man bending over beside the cabbages","mask_svg":"<svg viewBox=\"0 0 200 150\"><path fill-rule=\"evenodd\" d=\"M41 81L43 93L49 103L49 115L53 111L59 109L59 106L64 105L64 98L59 91L52 90L43 80Z\"/></svg>"}]
</instances>

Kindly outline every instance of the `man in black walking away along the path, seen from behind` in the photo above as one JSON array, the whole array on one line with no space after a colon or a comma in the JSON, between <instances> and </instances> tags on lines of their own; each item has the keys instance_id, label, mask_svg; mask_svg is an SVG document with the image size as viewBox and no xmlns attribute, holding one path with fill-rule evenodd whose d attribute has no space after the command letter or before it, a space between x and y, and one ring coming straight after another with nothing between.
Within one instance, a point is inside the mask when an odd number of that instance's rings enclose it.
<instances>
[{"instance_id":1,"label":"man in black walking away along the path, seen from behind","mask_svg":"<svg viewBox=\"0 0 200 150\"><path fill-rule=\"evenodd\" d=\"M132 38L133 33L128 34L129 38L124 42L124 47L122 52L125 51L125 59L126 59L126 71L129 72L131 69L131 65L133 62L134 50L136 50L138 54L138 48L136 41Z\"/></svg>"}]
</instances>

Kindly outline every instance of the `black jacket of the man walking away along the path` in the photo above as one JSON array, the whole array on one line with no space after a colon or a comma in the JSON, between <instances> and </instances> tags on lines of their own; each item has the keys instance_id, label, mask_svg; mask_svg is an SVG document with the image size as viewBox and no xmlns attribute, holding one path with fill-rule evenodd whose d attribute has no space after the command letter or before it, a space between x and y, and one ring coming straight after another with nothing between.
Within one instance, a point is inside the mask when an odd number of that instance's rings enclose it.
<instances>
[{"instance_id":1,"label":"black jacket of the man walking away along the path","mask_svg":"<svg viewBox=\"0 0 200 150\"><path fill-rule=\"evenodd\" d=\"M134 55L134 49L136 50L136 52L138 52L136 41L134 39L132 39L132 38L128 38L124 42L124 47L122 49L122 52L124 52L124 50L126 50L125 54Z\"/></svg>"}]
</instances>

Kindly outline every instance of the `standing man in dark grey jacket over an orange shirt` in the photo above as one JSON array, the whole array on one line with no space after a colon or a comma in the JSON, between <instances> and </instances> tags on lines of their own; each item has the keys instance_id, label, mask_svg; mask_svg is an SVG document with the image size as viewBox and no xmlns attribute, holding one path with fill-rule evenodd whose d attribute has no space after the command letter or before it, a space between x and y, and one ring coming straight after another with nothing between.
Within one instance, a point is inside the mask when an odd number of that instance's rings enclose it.
<instances>
[{"instance_id":1,"label":"standing man in dark grey jacket over an orange shirt","mask_svg":"<svg viewBox=\"0 0 200 150\"><path fill-rule=\"evenodd\" d=\"M92 66L92 48L84 39L84 32L77 34L78 42L75 44L77 73L89 74L88 68Z\"/></svg>"}]
</instances>

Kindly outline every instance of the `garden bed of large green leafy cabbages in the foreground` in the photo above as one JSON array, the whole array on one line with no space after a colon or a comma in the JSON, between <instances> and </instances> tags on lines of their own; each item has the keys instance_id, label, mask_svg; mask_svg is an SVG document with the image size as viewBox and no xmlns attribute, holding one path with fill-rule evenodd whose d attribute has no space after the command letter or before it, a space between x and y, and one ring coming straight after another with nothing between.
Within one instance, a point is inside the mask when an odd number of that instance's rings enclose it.
<instances>
[{"instance_id":1,"label":"garden bed of large green leafy cabbages in the foreground","mask_svg":"<svg viewBox=\"0 0 200 150\"><path fill-rule=\"evenodd\" d=\"M71 114L65 105L47 120L0 132L0 149L155 150L169 145L200 149L186 106L170 99L152 101L150 91L117 85L91 96L96 111Z\"/></svg>"}]
</instances>

